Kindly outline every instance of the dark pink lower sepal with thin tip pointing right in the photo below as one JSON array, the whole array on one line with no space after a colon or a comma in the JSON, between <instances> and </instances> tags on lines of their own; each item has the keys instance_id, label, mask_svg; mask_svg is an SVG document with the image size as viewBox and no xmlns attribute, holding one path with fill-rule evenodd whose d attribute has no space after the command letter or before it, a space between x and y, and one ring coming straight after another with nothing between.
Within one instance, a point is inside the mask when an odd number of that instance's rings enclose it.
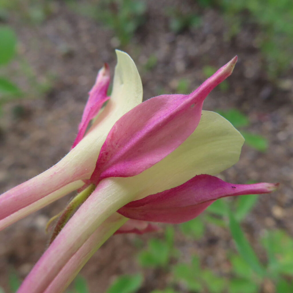
<instances>
[{"instance_id":1,"label":"dark pink lower sepal with thin tip pointing right","mask_svg":"<svg viewBox=\"0 0 293 293\"><path fill-rule=\"evenodd\" d=\"M278 184L231 184L210 175L198 175L184 184L135 200L118 212L130 219L151 222L182 223L197 217L221 197L269 193Z\"/></svg>"}]
</instances>

